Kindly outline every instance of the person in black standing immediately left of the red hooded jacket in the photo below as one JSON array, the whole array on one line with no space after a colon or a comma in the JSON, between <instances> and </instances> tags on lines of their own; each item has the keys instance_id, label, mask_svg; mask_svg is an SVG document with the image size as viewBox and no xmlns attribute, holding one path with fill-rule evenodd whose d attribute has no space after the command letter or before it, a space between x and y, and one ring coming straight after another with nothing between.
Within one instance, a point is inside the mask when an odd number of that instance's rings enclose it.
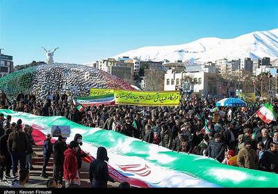
<instances>
[{"instance_id":1,"label":"person in black standing immediately left of the red hooded jacket","mask_svg":"<svg viewBox=\"0 0 278 194\"><path fill-rule=\"evenodd\" d=\"M53 145L53 178L58 182L58 184L62 184L63 181L63 173L64 173L64 159L65 155L64 152L67 149L67 144L65 143L67 138L59 135L58 140Z\"/></svg>"}]
</instances>

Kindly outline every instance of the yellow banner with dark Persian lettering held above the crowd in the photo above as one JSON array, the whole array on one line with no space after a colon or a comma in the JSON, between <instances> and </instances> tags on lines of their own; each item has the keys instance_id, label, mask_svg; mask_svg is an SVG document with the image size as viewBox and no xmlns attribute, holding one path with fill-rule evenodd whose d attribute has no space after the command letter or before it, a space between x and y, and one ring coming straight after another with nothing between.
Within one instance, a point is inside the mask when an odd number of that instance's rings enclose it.
<instances>
[{"instance_id":1,"label":"yellow banner with dark Persian lettering held above the crowd","mask_svg":"<svg viewBox=\"0 0 278 194\"><path fill-rule=\"evenodd\" d=\"M181 94L178 91L149 92L114 90L116 104L136 106L179 106Z\"/></svg>"}]
</instances>

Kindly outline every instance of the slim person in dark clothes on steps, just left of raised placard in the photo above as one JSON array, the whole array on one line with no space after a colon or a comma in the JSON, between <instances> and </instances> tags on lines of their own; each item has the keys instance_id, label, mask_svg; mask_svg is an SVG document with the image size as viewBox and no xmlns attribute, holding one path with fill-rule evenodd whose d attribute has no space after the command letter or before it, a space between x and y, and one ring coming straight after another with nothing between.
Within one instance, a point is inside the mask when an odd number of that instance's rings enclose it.
<instances>
[{"instance_id":1,"label":"slim person in dark clothes on steps, just left of raised placard","mask_svg":"<svg viewBox=\"0 0 278 194\"><path fill-rule=\"evenodd\" d=\"M51 135L47 134L47 139L44 140L43 144L43 156L44 156L44 165L42 166L42 175L41 177L47 178L46 168L51 154L53 153L53 144L51 143Z\"/></svg>"}]
</instances>

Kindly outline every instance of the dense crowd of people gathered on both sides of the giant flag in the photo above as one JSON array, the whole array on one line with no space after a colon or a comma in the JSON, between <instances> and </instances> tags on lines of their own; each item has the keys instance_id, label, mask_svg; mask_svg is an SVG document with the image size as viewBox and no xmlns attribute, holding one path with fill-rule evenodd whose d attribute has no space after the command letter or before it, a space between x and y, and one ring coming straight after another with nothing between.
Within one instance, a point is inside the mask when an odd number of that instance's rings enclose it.
<instances>
[{"instance_id":1,"label":"dense crowd of people gathered on both sides of the giant flag","mask_svg":"<svg viewBox=\"0 0 278 194\"><path fill-rule=\"evenodd\" d=\"M275 121L265 123L254 115L263 102L247 107L215 108L219 99L193 96L181 99L177 107L88 106L78 111L66 93L49 93L46 99L41 100L35 95L20 92L9 101L2 91L0 98L0 108L33 115L61 115L88 127L117 131L172 151L208 156L240 168L278 173L278 124ZM278 106L272 105L278 112ZM11 166L15 175L18 161L20 166L31 168L32 130L28 125L24 130L21 126L20 120L10 123L10 117L4 119L0 115L0 154L4 161L0 179L3 178L3 169L6 169L6 175L10 175ZM86 156L81 152L82 136L76 134L68 148L63 136L54 145L49 138L50 134L44 142L42 177L47 177L45 167L54 152L54 180L57 185L62 184L63 177L66 186L80 185L79 170L82 157ZM234 156L237 156L236 163L231 164L229 159ZM105 187L107 181L114 181L106 171L105 161L108 157L103 147L98 150L97 160L90 165L92 186Z\"/></svg>"}]
</instances>

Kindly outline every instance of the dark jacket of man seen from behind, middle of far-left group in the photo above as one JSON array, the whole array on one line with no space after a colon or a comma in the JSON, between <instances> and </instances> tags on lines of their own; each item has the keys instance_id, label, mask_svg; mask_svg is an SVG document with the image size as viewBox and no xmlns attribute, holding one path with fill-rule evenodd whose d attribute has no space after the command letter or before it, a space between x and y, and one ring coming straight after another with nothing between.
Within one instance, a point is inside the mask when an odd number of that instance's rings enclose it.
<instances>
[{"instance_id":1,"label":"dark jacket of man seen from behind, middle of far-left group","mask_svg":"<svg viewBox=\"0 0 278 194\"><path fill-rule=\"evenodd\" d=\"M24 132L13 131L8 137L9 152L27 152L27 138Z\"/></svg>"}]
</instances>

